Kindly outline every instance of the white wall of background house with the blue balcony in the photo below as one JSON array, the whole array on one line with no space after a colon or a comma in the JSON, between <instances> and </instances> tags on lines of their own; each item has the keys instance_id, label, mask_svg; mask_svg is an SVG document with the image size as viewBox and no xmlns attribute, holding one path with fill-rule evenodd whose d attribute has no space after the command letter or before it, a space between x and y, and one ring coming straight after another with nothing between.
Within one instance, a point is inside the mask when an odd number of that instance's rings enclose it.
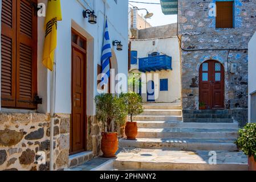
<instances>
[{"instance_id":1,"label":"white wall of background house with the blue balcony","mask_svg":"<svg viewBox=\"0 0 256 182\"><path fill-rule=\"evenodd\" d=\"M153 46L155 42L155 46ZM178 39L160 38L148 40L131 40L131 51L137 51L138 58L148 57L149 53L160 52L172 57L172 71L157 71L151 73L159 73L159 79L168 78L168 91L159 91L159 97L156 102L180 102L181 99L181 63L180 48ZM139 60L137 65L131 65L131 72L137 72L139 69ZM160 85L155 88L160 89ZM143 94L143 101L147 101L147 94Z\"/></svg>"}]
</instances>

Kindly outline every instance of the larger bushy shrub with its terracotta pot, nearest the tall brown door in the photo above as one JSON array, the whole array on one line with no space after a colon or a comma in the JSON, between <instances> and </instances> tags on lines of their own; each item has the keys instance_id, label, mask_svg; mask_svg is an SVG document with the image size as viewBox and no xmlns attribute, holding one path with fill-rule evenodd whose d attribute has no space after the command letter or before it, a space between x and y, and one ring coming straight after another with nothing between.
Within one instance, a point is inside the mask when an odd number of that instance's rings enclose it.
<instances>
[{"instance_id":1,"label":"larger bushy shrub with its terracotta pot, nearest the tall brown door","mask_svg":"<svg viewBox=\"0 0 256 182\"><path fill-rule=\"evenodd\" d=\"M111 123L124 123L127 117L124 102L112 94L100 94L95 97L96 118L103 122L105 132L101 133L101 151L103 156L112 158L118 150L117 133L112 132Z\"/></svg>"}]
</instances>

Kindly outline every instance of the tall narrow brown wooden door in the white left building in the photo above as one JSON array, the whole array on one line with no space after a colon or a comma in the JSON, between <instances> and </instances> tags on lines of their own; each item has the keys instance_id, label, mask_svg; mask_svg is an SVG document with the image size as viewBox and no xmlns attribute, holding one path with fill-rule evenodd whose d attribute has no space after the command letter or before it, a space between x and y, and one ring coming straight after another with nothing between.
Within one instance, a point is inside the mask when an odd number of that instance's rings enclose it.
<instances>
[{"instance_id":1,"label":"tall narrow brown wooden door in the white left building","mask_svg":"<svg viewBox=\"0 0 256 182\"><path fill-rule=\"evenodd\" d=\"M72 119L70 154L86 151L86 49L79 47L78 39L72 41Z\"/></svg>"}]
</instances>

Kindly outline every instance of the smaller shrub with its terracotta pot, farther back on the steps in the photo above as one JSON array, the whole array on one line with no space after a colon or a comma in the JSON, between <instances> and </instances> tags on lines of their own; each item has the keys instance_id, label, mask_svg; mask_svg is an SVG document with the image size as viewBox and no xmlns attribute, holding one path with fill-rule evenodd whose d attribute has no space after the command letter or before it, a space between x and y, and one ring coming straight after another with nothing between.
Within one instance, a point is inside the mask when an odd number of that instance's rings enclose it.
<instances>
[{"instance_id":1,"label":"smaller shrub with its terracotta pot, farther back on the steps","mask_svg":"<svg viewBox=\"0 0 256 182\"><path fill-rule=\"evenodd\" d=\"M136 139L138 134L137 122L133 122L133 115L143 113L142 97L137 93L122 93L120 98L123 99L127 113L131 117L131 121L127 121L125 126L125 135L127 139Z\"/></svg>"}]
</instances>

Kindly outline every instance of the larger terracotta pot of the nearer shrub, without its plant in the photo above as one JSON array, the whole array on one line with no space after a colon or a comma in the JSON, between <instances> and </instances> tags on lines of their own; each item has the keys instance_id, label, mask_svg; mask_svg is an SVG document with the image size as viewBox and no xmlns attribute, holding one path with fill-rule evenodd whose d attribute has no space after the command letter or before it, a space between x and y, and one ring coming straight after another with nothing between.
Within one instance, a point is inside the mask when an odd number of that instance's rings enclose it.
<instances>
[{"instance_id":1,"label":"larger terracotta pot of the nearer shrub, without its plant","mask_svg":"<svg viewBox=\"0 0 256 182\"><path fill-rule=\"evenodd\" d=\"M101 133L101 151L105 158L113 158L118 150L117 133Z\"/></svg>"}]
</instances>

